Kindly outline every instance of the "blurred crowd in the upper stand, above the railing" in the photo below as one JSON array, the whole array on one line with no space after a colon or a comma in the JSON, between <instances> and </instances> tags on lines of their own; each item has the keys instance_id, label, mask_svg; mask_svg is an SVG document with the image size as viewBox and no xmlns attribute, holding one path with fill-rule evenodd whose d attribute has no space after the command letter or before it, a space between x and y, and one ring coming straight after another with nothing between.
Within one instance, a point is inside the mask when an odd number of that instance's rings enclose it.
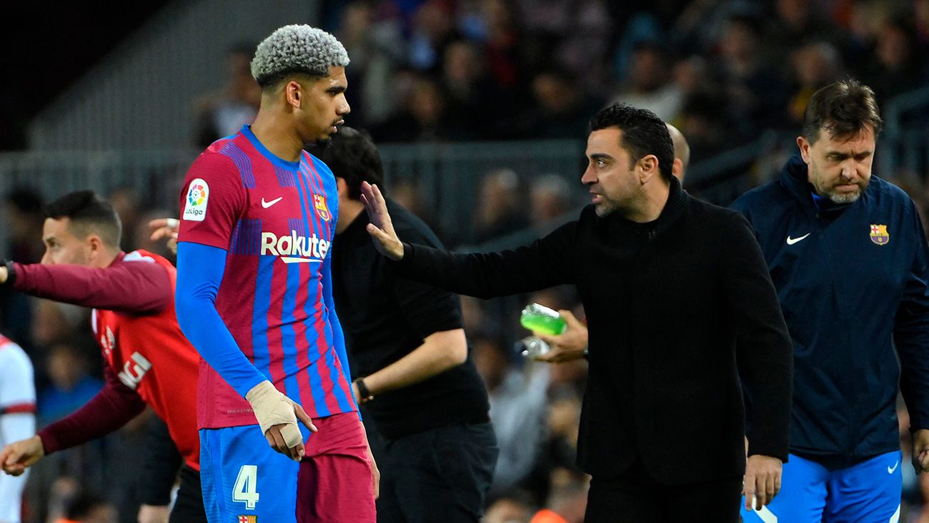
<instances>
[{"instance_id":1,"label":"blurred crowd in the upper stand, above the railing","mask_svg":"<svg viewBox=\"0 0 929 523\"><path fill-rule=\"evenodd\" d=\"M637 10L636 5L648 6ZM577 138L608 102L655 111L697 157L795 129L853 74L926 83L926 0L331 0L350 119L377 143Z\"/></svg>"}]
</instances>

